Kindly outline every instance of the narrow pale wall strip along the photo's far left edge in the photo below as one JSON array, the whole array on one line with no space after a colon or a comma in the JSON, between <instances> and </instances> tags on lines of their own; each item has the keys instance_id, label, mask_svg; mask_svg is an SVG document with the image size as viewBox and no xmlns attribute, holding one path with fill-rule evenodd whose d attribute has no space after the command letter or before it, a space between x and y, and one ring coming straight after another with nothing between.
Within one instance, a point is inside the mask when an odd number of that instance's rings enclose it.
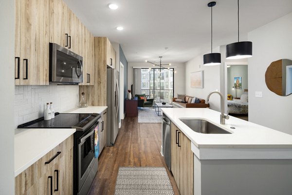
<instances>
[{"instance_id":1,"label":"narrow pale wall strip along the photo's far left edge","mask_svg":"<svg viewBox=\"0 0 292 195\"><path fill-rule=\"evenodd\" d=\"M15 1L0 1L0 194L14 195L14 32Z\"/></svg>"}]
</instances>

